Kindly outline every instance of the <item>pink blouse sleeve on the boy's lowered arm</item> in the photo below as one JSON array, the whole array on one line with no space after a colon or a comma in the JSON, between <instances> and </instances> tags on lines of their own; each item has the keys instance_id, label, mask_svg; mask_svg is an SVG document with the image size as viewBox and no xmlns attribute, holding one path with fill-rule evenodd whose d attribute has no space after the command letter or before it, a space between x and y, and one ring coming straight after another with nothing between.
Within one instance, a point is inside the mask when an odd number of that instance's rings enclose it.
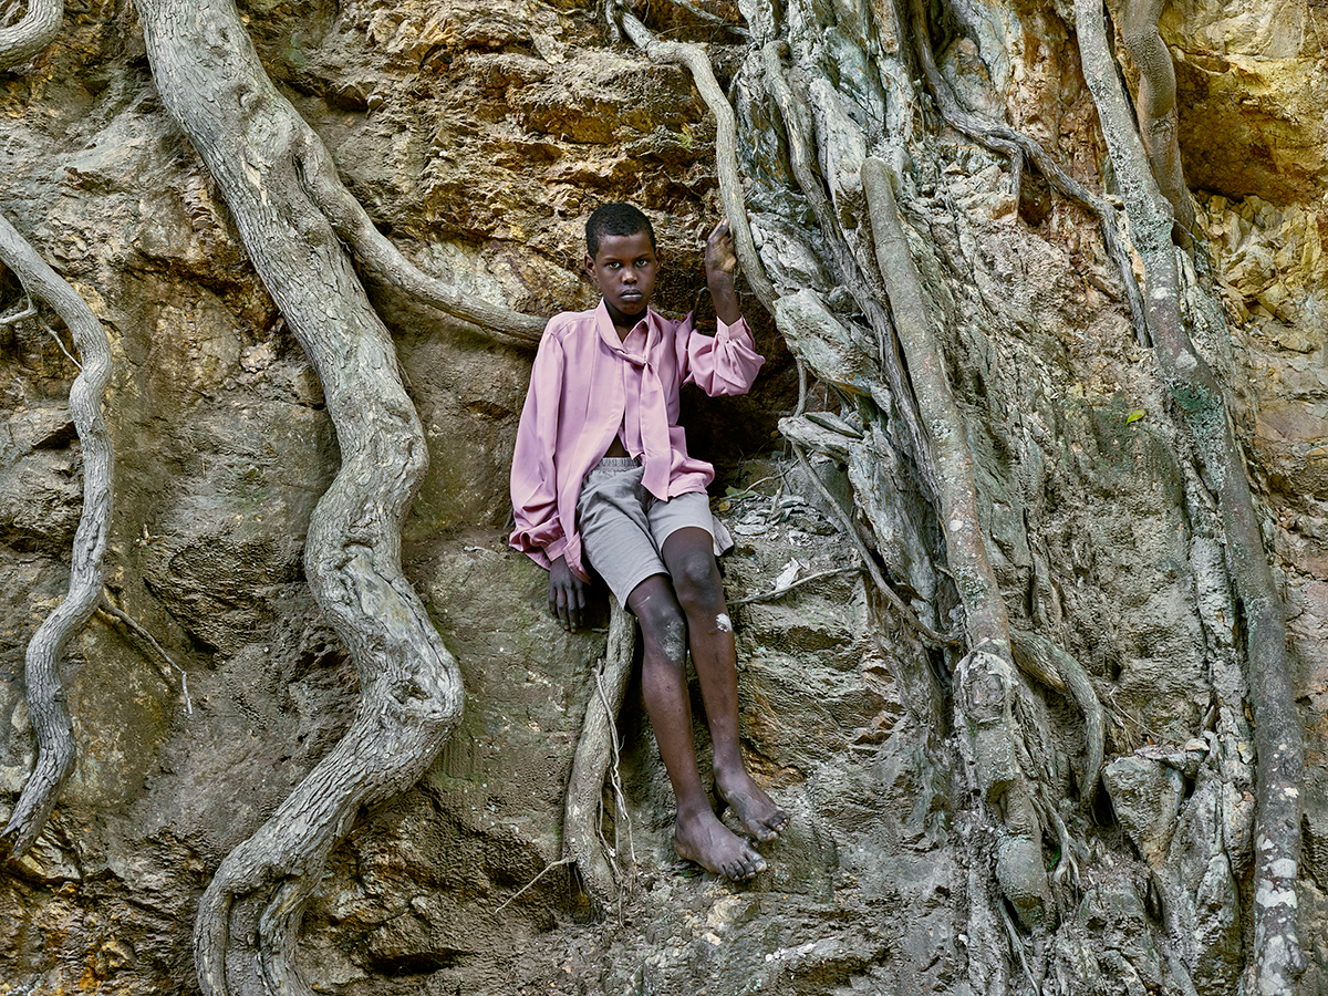
<instances>
[{"instance_id":1,"label":"pink blouse sleeve on the boy's lowered arm","mask_svg":"<svg viewBox=\"0 0 1328 996\"><path fill-rule=\"evenodd\" d=\"M535 353L530 392L521 412L511 458L511 507L517 529L510 543L540 567L563 555L567 537L558 515L558 405L563 393L563 347L548 332Z\"/></svg>"}]
</instances>

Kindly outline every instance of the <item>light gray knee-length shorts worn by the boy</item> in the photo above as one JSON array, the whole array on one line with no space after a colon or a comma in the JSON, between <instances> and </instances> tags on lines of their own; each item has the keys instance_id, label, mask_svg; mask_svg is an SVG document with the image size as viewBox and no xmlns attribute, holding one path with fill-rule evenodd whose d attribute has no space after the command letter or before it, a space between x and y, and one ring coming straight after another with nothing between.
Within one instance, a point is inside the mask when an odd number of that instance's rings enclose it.
<instances>
[{"instance_id":1,"label":"light gray knee-length shorts worn by the boy","mask_svg":"<svg viewBox=\"0 0 1328 996\"><path fill-rule=\"evenodd\" d=\"M641 485L644 469L631 457L604 457L582 481L576 499L582 551L619 604L653 574L668 574L660 551L680 529L695 526L710 534L718 555L729 546L728 533L710 515L704 493L659 501Z\"/></svg>"}]
</instances>

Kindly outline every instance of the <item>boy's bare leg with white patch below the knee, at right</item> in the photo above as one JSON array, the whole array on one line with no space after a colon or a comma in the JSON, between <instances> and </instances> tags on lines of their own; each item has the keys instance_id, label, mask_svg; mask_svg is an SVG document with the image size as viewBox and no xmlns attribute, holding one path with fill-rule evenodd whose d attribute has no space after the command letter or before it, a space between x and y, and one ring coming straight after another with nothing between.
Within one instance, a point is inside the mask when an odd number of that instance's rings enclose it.
<instances>
[{"instance_id":1,"label":"boy's bare leg with white patch below the knee, at right","mask_svg":"<svg viewBox=\"0 0 1328 996\"><path fill-rule=\"evenodd\" d=\"M738 673L733 624L724 603L724 583L714 563L710 534L680 529L664 540L664 563L687 615L692 664L714 745L714 789L758 841L773 841L789 814L752 781L738 742Z\"/></svg>"}]
</instances>

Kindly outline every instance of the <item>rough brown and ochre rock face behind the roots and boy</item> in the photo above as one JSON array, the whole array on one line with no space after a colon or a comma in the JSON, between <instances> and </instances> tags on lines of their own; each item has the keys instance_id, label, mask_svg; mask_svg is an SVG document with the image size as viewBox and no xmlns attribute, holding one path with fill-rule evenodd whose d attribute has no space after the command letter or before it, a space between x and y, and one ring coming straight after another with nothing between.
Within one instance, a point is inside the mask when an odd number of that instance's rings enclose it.
<instances>
[{"instance_id":1,"label":"rough brown and ochre rock face behind the roots and boy","mask_svg":"<svg viewBox=\"0 0 1328 996\"><path fill-rule=\"evenodd\" d=\"M725 46L734 36L648 7L656 28L716 42L721 82L738 74L746 49ZM730 4L705 7L738 20ZM903 32L888 5L829 7L815 12L841 19L823 31L827 65L907 48L902 35L863 29L876 17ZM1096 187L1101 139L1065 5L955 3L948 15L935 48L959 98L1029 131ZM596 4L309 0L254 3L244 16L347 185L422 268L530 313L588 307L580 226L596 203L632 199L656 219L660 307L692 308L700 236L718 212L714 126L685 72L610 44ZM1308 995L1328 988L1317 940L1328 924L1328 78L1317 42L1328 23L1315 4L1182 4L1162 32L1231 323L1230 337L1201 324L1199 347L1230 386L1300 667ZM772 272L806 284L784 307L802 301L814 324L851 300L823 286L826 260L791 248L788 219L810 230L810 212L770 193L786 150L745 93L733 96L745 134L765 135L744 150L761 251ZM862 101L876 106L878 94ZM69 4L57 42L0 74L0 211L84 295L116 355L109 595L174 661L101 614L70 645L78 762L37 846L0 874L0 993L193 993L203 887L355 708L355 669L301 567L337 442L317 378L161 108L129 4ZM1013 943L1054 992L1238 992L1254 902L1252 748L1242 620L1203 469L1169 418L1086 216L1036 175L1016 201L1008 165L952 133L911 157L911 248L947 317L948 373L1011 619L1053 633L1108 713L1109 761L1084 805L1098 772L1085 770L1073 701L1042 689L1029 717L1045 748L1029 764L1065 798L1066 837L1044 842L1044 855L1077 876L1080 899L1053 911L1036 946L1011 920ZM558 628L543 572L503 543L531 357L371 290L430 446L406 572L469 695L429 776L361 814L335 851L304 916L315 991L971 992L969 938L1005 927L973 919L999 842L972 819L946 659L847 570L733 610L749 757L793 814L764 846L770 871L733 886L676 859L668 782L633 689L619 720L622 809L606 790L604 819L625 887L606 919L590 916L554 863L604 635ZM794 560L798 576L857 564L819 491L770 456L797 378L773 319L745 304L770 357L757 389L684 402L692 452L721 467L716 509L738 540L732 600L770 591ZM0 313L20 305L0 272ZM81 458L64 401L74 373L40 323L0 324L0 814L33 757L24 647L62 595L78 519ZM823 385L810 408L854 418ZM939 526L907 489L907 459L888 481L850 482L834 459L817 471L841 501L871 495L859 503L874 502L878 533L892 523L880 551L891 578L915 607L944 607L930 559ZM701 725L697 737L704 756ZM992 984L1027 989L1017 972Z\"/></svg>"}]
</instances>

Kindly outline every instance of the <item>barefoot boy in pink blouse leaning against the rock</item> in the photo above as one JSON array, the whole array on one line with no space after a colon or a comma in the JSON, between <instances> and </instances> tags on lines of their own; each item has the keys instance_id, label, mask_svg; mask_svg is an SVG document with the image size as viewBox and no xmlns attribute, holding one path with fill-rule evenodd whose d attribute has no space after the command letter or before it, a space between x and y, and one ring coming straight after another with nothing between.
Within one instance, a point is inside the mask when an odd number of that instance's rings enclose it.
<instances>
[{"instance_id":1,"label":"barefoot boy in pink blouse leaning against the rock","mask_svg":"<svg viewBox=\"0 0 1328 996\"><path fill-rule=\"evenodd\" d=\"M714 789L748 831L773 839L789 822L752 781L738 746L737 652L705 486L714 467L687 454L679 388L742 394L765 360L738 313L737 256L722 222L705 247L716 335L651 311L659 270L649 219L604 205L586 222L592 311L550 320L535 356L511 469L511 544L548 568L548 608L575 632L587 564L641 628L641 689L673 785L673 846L730 879L765 869L710 809L697 770L687 648L714 745Z\"/></svg>"}]
</instances>

